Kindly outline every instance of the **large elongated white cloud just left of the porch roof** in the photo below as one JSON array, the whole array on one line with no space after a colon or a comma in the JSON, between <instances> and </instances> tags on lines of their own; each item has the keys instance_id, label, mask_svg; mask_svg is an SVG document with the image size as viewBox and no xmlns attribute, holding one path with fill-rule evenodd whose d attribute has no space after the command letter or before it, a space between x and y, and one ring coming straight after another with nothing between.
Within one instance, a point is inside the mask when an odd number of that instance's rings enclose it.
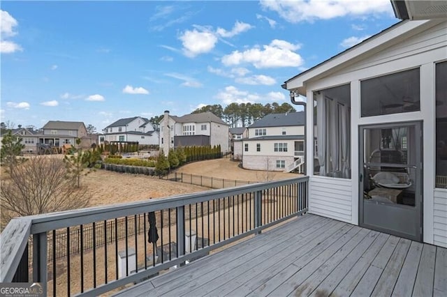
<instances>
[{"instance_id":1,"label":"large elongated white cloud just left of the porch roof","mask_svg":"<svg viewBox=\"0 0 447 297\"><path fill-rule=\"evenodd\" d=\"M293 51L298 50L300 45L293 45L285 40L272 40L270 45L253 47L244 52L234 51L231 54L223 56L221 61L223 65L233 66L242 63L251 63L256 68L275 68L275 67L298 67L304 63L300 54Z\"/></svg>"}]
</instances>

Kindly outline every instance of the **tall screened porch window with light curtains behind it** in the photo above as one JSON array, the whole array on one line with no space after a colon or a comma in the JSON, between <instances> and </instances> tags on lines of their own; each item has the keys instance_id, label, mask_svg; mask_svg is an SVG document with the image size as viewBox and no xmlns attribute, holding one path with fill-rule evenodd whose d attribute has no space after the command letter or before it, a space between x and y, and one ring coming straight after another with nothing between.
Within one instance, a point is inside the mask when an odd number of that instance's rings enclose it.
<instances>
[{"instance_id":1,"label":"tall screened porch window with light curtains behind it","mask_svg":"<svg viewBox=\"0 0 447 297\"><path fill-rule=\"evenodd\" d=\"M314 92L314 174L351 178L351 86Z\"/></svg>"}]
</instances>

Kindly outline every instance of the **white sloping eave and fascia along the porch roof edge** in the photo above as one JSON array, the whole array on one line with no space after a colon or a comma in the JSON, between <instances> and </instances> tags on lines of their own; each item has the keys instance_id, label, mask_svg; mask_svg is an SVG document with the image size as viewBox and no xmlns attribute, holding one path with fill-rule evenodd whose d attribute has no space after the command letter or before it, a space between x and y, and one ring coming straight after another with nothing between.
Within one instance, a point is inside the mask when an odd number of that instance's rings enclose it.
<instances>
[{"instance_id":1,"label":"white sloping eave and fascia along the porch roof edge","mask_svg":"<svg viewBox=\"0 0 447 297\"><path fill-rule=\"evenodd\" d=\"M344 52L340 52L339 54L332 56L330 59L319 63L313 68L295 75L291 79L288 79L282 86L284 89L296 91L302 96L307 96L307 82L313 79L326 77L331 73L335 73L337 70L358 63L387 47L400 43L410 36L414 36L416 33L420 33L439 23L441 23L439 20L404 20L397 24L393 24L393 26L363 40L358 45L354 45Z\"/></svg>"}]
</instances>

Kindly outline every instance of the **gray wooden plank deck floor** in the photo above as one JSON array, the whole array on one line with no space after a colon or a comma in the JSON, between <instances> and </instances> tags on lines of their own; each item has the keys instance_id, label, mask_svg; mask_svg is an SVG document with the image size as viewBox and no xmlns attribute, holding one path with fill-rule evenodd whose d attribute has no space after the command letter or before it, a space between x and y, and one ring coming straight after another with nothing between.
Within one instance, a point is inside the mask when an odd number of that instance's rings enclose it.
<instances>
[{"instance_id":1,"label":"gray wooden plank deck floor","mask_svg":"<svg viewBox=\"0 0 447 297\"><path fill-rule=\"evenodd\" d=\"M447 296L447 249L303 215L117 296Z\"/></svg>"}]
</instances>

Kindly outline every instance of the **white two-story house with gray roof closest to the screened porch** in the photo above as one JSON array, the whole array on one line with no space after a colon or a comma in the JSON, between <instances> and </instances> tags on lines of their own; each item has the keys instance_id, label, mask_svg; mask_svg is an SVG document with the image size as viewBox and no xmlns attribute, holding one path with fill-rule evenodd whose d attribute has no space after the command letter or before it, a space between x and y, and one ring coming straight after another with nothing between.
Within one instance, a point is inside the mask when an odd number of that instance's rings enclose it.
<instances>
[{"instance_id":1,"label":"white two-story house with gray roof closest to the screened porch","mask_svg":"<svg viewBox=\"0 0 447 297\"><path fill-rule=\"evenodd\" d=\"M242 167L291 172L304 169L305 113L268 114L242 139Z\"/></svg>"}]
</instances>

